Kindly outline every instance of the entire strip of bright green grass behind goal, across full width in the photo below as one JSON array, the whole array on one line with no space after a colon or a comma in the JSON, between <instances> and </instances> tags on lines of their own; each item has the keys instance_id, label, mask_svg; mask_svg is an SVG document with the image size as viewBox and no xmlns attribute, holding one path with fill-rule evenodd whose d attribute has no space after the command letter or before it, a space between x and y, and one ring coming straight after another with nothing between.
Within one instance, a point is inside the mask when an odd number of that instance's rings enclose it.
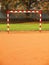
<instances>
[{"instance_id":1,"label":"entire strip of bright green grass behind goal, across full width","mask_svg":"<svg viewBox=\"0 0 49 65\"><path fill-rule=\"evenodd\" d=\"M0 31L6 31L7 24L0 24ZM39 23L10 24L10 31L34 31L39 30ZM42 23L42 30L49 30L49 23Z\"/></svg>"}]
</instances>

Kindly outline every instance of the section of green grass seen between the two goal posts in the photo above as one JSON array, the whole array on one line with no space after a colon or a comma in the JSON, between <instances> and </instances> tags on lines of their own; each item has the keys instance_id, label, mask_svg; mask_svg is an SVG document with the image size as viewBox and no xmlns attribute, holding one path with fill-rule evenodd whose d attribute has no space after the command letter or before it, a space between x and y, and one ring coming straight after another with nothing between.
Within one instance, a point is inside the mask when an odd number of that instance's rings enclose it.
<instances>
[{"instance_id":1,"label":"section of green grass seen between the two goal posts","mask_svg":"<svg viewBox=\"0 0 49 65\"><path fill-rule=\"evenodd\" d=\"M30 30L38 30L38 24L10 24L11 31L30 31Z\"/></svg>"}]
</instances>

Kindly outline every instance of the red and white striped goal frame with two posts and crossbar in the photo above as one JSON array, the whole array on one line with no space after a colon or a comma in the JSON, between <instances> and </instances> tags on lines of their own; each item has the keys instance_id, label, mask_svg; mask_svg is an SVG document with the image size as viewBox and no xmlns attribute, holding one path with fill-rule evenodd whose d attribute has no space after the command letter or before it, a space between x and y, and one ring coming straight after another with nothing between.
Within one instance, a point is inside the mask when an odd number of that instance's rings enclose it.
<instances>
[{"instance_id":1,"label":"red and white striped goal frame with two posts and crossbar","mask_svg":"<svg viewBox=\"0 0 49 65\"><path fill-rule=\"evenodd\" d=\"M39 16L40 16L40 19L39 19L39 31L41 32L41 23L42 23L42 11L41 10L8 10L7 11L7 32L9 33L10 31L10 28L9 28L9 14L12 13L38 13Z\"/></svg>"}]
</instances>

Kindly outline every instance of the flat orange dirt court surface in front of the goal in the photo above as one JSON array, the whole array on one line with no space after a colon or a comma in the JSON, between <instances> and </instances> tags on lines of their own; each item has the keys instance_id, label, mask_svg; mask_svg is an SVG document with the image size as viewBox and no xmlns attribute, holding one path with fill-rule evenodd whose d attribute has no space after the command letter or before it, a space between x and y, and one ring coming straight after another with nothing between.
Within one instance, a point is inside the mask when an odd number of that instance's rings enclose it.
<instances>
[{"instance_id":1,"label":"flat orange dirt court surface in front of the goal","mask_svg":"<svg viewBox=\"0 0 49 65\"><path fill-rule=\"evenodd\" d=\"M0 65L49 65L49 32L0 32Z\"/></svg>"}]
</instances>

